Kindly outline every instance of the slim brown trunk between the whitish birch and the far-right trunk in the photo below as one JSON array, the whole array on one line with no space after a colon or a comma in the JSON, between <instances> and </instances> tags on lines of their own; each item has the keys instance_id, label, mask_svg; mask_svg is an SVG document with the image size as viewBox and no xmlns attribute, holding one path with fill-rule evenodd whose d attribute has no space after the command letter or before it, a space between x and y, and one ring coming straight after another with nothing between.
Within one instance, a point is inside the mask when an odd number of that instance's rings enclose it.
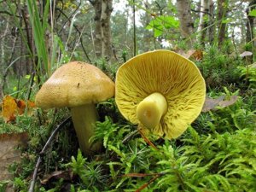
<instances>
[{"instance_id":1,"label":"slim brown trunk between the whitish birch and the far-right trunk","mask_svg":"<svg viewBox=\"0 0 256 192\"><path fill-rule=\"evenodd\" d=\"M227 0L218 0L218 47L224 43L226 35L226 23L223 22L227 13Z\"/></svg>"}]
</instances>

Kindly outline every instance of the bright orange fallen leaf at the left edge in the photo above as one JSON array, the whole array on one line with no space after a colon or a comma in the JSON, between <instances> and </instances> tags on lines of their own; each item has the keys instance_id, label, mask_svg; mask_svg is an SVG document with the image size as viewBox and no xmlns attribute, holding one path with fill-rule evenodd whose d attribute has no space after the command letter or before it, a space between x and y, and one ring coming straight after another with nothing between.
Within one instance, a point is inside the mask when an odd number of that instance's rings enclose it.
<instances>
[{"instance_id":1,"label":"bright orange fallen leaf at the left edge","mask_svg":"<svg viewBox=\"0 0 256 192\"><path fill-rule=\"evenodd\" d=\"M2 116L6 123L15 121L17 112L17 103L12 96L4 96L2 103Z\"/></svg>"}]
</instances>

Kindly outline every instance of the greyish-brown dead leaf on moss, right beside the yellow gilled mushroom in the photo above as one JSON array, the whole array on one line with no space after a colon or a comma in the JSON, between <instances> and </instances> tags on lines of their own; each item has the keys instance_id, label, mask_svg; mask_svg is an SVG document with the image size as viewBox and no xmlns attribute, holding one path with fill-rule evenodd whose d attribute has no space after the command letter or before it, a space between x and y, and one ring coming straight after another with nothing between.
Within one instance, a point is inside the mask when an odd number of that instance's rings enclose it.
<instances>
[{"instance_id":1,"label":"greyish-brown dead leaf on moss, right beside the yellow gilled mushroom","mask_svg":"<svg viewBox=\"0 0 256 192\"><path fill-rule=\"evenodd\" d=\"M207 97L201 111L207 112L207 111L216 109L216 107L222 107L222 108L229 107L230 105L233 105L237 101L238 96L230 96L229 100L224 100L224 98L225 96L219 96L216 99Z\"/></svg>"}]
</instances>

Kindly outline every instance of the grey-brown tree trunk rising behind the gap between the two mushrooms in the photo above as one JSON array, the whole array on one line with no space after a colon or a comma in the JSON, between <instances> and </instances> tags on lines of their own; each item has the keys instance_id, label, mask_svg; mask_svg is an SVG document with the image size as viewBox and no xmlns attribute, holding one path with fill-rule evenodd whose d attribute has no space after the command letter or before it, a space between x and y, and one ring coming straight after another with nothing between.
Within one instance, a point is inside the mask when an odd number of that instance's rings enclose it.
<instances>
[{"instance_id":1,"label":"grey-brown tree trunk rising behind the gap between the two mushrooms","mask_svg":"<svg viewBox=\"0 0 256 192\"><path fill-rule=\"evenodd\" d=\"M90 0L95 9L95 49L97 57L112 58L112 40L110 16L113 10L113 0Z\"/></svg>"}]
</instances>

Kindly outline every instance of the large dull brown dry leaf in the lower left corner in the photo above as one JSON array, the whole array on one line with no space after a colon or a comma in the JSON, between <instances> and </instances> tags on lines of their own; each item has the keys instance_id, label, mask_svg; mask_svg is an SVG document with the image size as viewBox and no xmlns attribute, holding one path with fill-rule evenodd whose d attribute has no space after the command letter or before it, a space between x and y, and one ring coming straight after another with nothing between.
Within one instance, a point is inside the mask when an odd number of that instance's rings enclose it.
<instances>
[{"instance_id":1,"label":"large dull brown dry leaf in the lower left corner","mask_svg":"<svg viewBox=\"0 0 256 192\"><path fill-rule=\"evenodd\" d=\"M27 142L26 132L0 135L0 181L11 178L8 167L14 162L20 162L20 150L17 148L26 146Z\"/></svg>"}]
</instances>

